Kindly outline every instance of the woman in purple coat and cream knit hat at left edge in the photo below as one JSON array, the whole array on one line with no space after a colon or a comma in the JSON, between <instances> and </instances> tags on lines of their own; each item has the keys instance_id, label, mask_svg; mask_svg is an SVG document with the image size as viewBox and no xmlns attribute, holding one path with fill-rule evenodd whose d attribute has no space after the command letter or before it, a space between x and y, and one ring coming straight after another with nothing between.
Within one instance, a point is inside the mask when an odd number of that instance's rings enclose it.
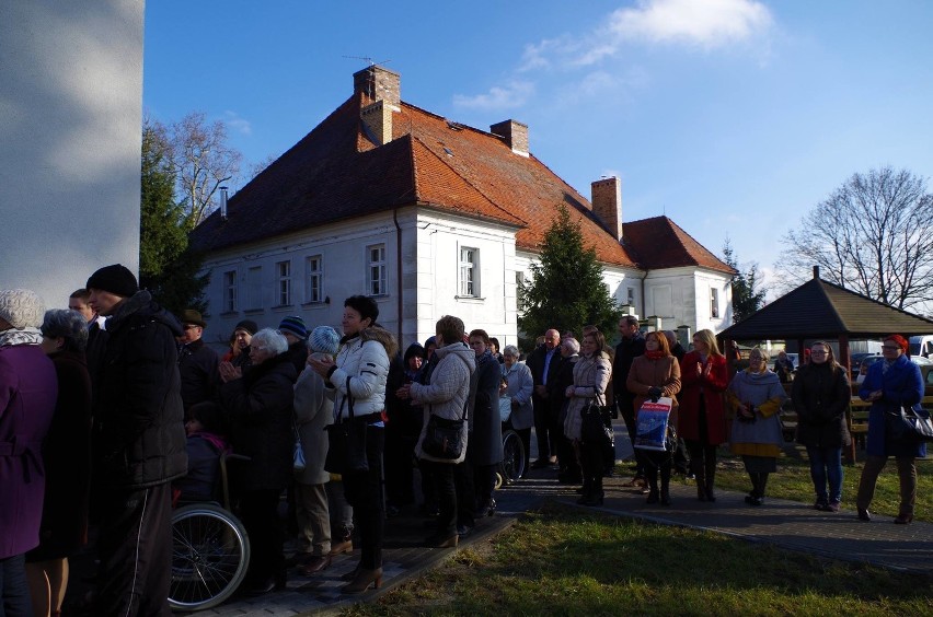
<instances>
[{"instance_id":1,"label":"woman in purple coat and cream knit hat at left edge","mask_svg":"<svg viewBox=\"0 0 933 617\"><path fill-rule=\"evenodd\" d=\"M44 311L33 291L0 291L0 607L8 615L32 614L24 557L39 544L42 445L58 394L39 346Z\"/></svg>"}]
</instances>

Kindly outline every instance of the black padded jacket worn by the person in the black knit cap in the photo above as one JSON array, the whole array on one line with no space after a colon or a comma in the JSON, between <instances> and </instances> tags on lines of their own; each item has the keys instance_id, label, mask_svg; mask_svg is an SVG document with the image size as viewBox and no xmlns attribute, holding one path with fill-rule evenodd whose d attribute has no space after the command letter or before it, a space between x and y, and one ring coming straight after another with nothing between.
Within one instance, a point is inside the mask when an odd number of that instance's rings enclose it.
<instances>
[{"instance_id":1,"label":"black padded jacket worn by the person in the black knit cap","mask_svg":"<svg viewBox=\"0 0 933 617\"><path fill-rule=\"evenodd\" d=\"M181 324L138 291L117 305L106 331L93 392L95 482L135 490L184 476Z\"/></svg>"}]
</instances>

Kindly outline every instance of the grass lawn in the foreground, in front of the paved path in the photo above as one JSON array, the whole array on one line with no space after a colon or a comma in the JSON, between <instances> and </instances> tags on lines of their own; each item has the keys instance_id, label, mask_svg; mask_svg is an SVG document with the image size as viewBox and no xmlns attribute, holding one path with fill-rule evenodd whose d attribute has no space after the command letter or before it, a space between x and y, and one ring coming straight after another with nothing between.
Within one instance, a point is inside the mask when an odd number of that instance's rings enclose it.
<instances>
[{"instance_id":1,"label":"grass lawn in the foreground, in front of the paved path","mask_svg":"<svg viewBox=\"0 0 933 617\"><path fill-rule=\"evenodd\" d=\"M344 615L930 615L933 577L551 504Z\"/></svg>"}]
</instances>

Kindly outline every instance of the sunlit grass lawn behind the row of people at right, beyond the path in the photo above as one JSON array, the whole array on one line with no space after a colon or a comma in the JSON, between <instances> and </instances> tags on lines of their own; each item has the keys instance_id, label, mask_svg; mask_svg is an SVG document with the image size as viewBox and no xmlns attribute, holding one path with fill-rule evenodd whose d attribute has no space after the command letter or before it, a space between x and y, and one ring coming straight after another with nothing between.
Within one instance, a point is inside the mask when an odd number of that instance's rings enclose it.
<instances>
[{"instance_id":1,"label":"sunlit grass lawn behind the row of people at right, beyond the path","mask_svg":"<svg viewBox=\"0 0 933 617\"><path fill-rule=\"evenodd\" d=\"M855 496L859 492L863 458L864 452L860 452L855 465L844 463L842 465L842 507L845 510L855 510ZM630 473L629 468L622 470L622 474ZM681 481L693 485L692 481ZM719 449L716 486L742 492L751 489L751 481L745 472L741 457L730 454L726 447ZM897 516L900 502L898 486L897 465L895 459L890 458L882 475L878 476L871 511L876 514ZM816 500L806 450L794 444L788 444L784 449L783 456L778 459L778 473L768 478L768 496L805 503L813 503ZM933 461L929 458L917 461L914 517L918 521L933 521Z\"/></svg>"}]
</instances>

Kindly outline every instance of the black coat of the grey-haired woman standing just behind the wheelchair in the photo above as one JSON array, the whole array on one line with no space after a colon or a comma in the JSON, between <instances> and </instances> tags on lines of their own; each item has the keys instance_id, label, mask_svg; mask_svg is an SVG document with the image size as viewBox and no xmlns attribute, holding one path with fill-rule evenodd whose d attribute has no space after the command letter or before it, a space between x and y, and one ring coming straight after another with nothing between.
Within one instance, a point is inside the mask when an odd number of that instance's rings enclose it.
<instances>
[{"instance_id":1,"label":"black coat of the grey-haired woman standing just behind the wheelchair","mask_svg":"<svg viewBox=\"0 0 933 617\"><path fill-rule=\"evenodd\" d=\"M287 353L280 353L253 364L242 379L220 388L233 452L250 457L241 465L243 490L280 490L291 479L297 379L295 364Z\"/></svg>"}]
</instances>

